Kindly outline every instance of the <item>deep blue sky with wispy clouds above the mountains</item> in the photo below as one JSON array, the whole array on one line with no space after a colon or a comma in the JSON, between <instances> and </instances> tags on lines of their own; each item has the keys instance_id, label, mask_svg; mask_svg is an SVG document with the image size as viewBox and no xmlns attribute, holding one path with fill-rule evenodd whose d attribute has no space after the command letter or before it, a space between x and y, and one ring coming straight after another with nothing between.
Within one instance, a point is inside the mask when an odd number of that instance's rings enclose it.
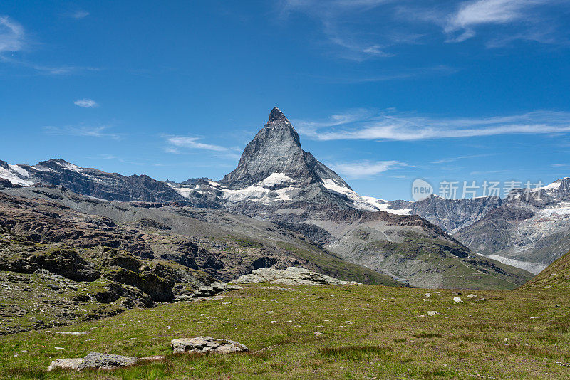
<instances>
[{"instance_id":1,"label":"deep blue sky with wispy clouds above the mountains","mask_svg":"<svg viewBox=\"0 0 570 380\"><path fill-rule=\"evenodd\" d=\"M0 159L219 179L276 105L363 195L549 183L570 176L569 16L559 0L4 0Z\"/></svg>"}]
</instances>

